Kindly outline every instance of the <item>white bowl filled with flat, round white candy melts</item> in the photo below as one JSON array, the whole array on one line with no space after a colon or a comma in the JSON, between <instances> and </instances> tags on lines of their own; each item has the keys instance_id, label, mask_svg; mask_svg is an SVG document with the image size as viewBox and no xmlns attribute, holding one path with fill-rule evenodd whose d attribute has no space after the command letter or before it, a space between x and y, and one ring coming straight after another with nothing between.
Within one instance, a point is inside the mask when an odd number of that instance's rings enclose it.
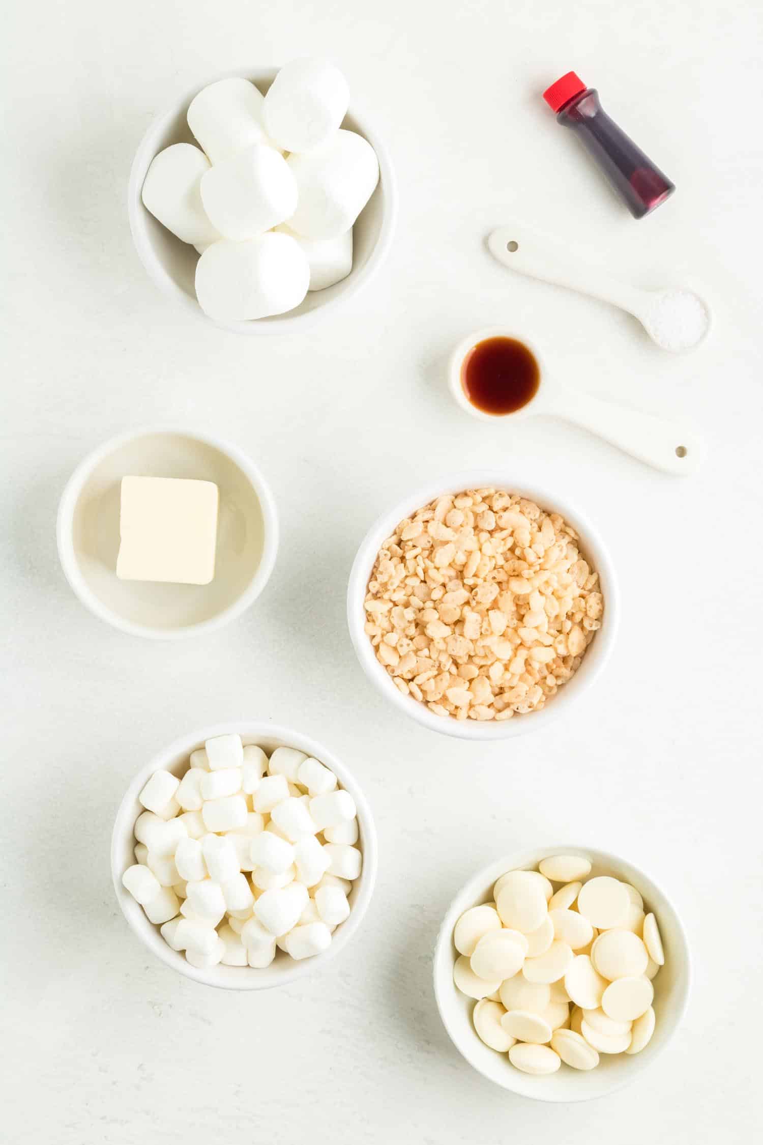
<instances>
[{"instance_id":1,"label":"white bowl filled with flat, round white candy melts","mask_svg":"<svg viewBox=\"0 0 763 1145\"><path fill-rule=\"evenodd\" d=\"M434 961L445 1028L503 1089L581 1101L633 1081L683 1018L690 956L665 892L604 851L542 847L475 875Z\"/></svg>"}]
</instances>

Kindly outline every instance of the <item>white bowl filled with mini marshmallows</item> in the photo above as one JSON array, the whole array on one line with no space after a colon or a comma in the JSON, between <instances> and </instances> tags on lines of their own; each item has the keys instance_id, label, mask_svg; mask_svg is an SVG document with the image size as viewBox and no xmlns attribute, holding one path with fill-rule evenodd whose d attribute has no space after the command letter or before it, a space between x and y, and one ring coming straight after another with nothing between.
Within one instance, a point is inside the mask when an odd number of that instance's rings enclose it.
<instances>
[{"instance_id":1,"label":"white bowl filled with mini marshmallows","mask_svg":"<svg viewBox=\"0 0 763 1145\"><path fill-rule=\"evenodd\" d=\"M352 775L269 724L175 741L130 783L111 844L137 937L188 978L281 986L324 965L371 901L376 836Z\"/></svg>"}]
</instances>

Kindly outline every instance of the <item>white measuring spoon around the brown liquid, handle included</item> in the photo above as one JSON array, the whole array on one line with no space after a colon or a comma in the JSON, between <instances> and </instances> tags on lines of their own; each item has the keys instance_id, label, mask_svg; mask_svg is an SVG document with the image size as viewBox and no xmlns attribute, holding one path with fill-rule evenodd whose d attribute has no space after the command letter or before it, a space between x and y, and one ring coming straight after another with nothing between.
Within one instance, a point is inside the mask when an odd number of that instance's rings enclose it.
<instances>
[{"instance_id":1,"label":"white measuring spoon around the brown liquid, handle included","mask_svg":"<svg viewBox=\"0 0 763 1145\"><path fill-rule=\"evenodd\" d=\"M540 382L535 396L514 413L485 413L472 405L463 388L463 363L469 352L487 338L512 338L532 353L538 363ZM451 392L461 409L483 421L512 420L546 413L582 426L612 445L630 453L646 465L663 473L686 476L702 463L705 448L701 439L686 425L678 425L651 413L641 413L627 405L605 402L580 390L569 389L549 378L543 360L535 346L503 326L488 326L464 338L453 350L448 366Z\"/></svg>"}]
</instances>

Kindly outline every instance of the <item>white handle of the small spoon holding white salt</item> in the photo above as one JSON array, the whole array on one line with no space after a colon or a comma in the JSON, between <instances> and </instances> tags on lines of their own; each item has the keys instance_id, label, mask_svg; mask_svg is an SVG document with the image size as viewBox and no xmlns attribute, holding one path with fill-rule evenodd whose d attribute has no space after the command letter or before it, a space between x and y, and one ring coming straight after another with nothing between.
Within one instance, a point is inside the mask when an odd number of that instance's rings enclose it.
<instances>
[{"instance_id":1,"label":"white handle of the small spoon holding white salt","mask_svg":"<svg viewBox=\"0 0 763 1145\"><path fill-rule=\"evenodd\" d=\"M590 264L585 251L575 251L562 239L524 223L511 223L494 230L487 246L493 258L510 270L589 294L638 317L643 291L611 278L605 270Z\"/></svg>"}]
</instances>

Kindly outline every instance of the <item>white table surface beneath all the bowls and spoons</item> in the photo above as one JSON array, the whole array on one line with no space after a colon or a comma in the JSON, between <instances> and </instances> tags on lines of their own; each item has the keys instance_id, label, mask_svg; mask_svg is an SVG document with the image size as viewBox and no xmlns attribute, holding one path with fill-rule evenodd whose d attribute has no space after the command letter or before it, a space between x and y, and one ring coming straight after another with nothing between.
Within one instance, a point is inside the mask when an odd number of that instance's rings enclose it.
<instances>
[{"instance_id":1,"label":"white table surface beneath all the bowls and spoons","mask_svg":"<svg viewBox=\"0 0 763 1145\"><path fill-rule=\"evenodd\" d=\"M7 325L0 498L2 1052L9 1143L348 1140L437 1145L752 1139L761 1024L760 8L750 0L13 0L2 179ZM246 63L332 54L389 141L391 255L345 310L287 341L216 330L160 295L125 191L152 114ZM678 190L635 222L554 123L574 68ZM702 283L712 341L685 357L634 321L495 266L511 218L634 283ZM694 479L582 431L466 418L444 361L510 322L572 385L704 426ZM255 607L198 641L130 639L58 568L54 520L110 435L184 419L245 447L283 523ZM623 617L605 679L561 722L470 747L388 706L344 627L356 546L430 476L542 475L599 523ZM128 931L109 836L133 773L226 717L293 722L353 767L381 869L355 943L262 995L173 974ZM461 882L574 836L654 872L694 954L659 1065L594 1104L515 1098L474 1073L435 1009L430 955ZM5 1137L5 1132L3 1132Z\"/></svg>"}]
</instances>

